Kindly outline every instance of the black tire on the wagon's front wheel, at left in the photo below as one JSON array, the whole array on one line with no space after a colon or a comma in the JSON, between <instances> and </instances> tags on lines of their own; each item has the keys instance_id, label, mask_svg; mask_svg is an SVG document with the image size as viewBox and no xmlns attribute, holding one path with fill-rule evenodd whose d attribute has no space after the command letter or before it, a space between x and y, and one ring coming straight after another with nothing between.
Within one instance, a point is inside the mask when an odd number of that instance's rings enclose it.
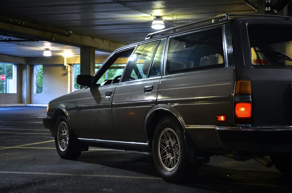
<instances>
[{"instance_id":1,"label":"black tire on the wagon's front wheel, at left","mask_svg":"<svg viewBox=\"0 0 292 193\"><path fill-rule=\"evenodd\" d=\"M66 131L65 126L67 127L67 132L62 132L62 131ZM69 128L70 127L69 127L67 118L64 116L59 117L55 126L55 145L56 145L57 152L62 159L75 159L75 158L78 158L81 154L81 151L73 151L72 149L71 130ZM58 132L59 132L59 137L58 137ZM62 133L62 135L60 133ZM65 142L59 143L58 138Z\"/></svg>"}]
</instances>

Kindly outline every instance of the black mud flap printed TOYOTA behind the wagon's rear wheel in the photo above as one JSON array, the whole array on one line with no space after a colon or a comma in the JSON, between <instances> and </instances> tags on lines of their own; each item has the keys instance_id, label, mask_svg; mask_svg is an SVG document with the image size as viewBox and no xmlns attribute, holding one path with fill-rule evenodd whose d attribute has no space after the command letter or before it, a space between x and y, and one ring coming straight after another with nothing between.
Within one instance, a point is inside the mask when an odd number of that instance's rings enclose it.
<instances>
[{"instance_id":1,"label":"black mud flap printed TOYOTA behind the wagon's rear wheel","mask_svg":"<svg viewBox=\"0 0 292 193\"><path fill-rule=\"evenodd\" d=\"M201 152L196 149L194 143L184 131L185 142L187 145L187 154L189 156L189 160L191 163L209 163L210 157L206 155L206 153Z\"/></svg>"}]
</instances>

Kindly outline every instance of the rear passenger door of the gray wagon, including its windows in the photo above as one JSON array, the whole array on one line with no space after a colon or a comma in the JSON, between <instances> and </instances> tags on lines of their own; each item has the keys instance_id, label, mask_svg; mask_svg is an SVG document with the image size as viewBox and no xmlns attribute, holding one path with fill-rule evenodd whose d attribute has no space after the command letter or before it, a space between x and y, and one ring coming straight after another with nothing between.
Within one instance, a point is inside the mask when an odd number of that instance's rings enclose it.
<instances>
[{"instance_id":1,"label":"rear passenger door of the gray wagon, including its windows","mask_svg":"<svg viewBox=\"0 0 292 193\"><path fill-rule=\"evenodd\" d=\"M157 99L165 44L166 39L138 45L116 87L112 112L121 141L147 141L144 121Z\"/></svg>"}]
</instances>

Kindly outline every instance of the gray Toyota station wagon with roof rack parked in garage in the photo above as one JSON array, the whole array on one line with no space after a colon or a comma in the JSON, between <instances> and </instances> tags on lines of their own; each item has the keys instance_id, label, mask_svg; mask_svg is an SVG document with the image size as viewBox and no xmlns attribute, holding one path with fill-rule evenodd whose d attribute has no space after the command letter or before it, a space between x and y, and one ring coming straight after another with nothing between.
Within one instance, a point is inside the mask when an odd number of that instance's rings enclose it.
<instances>
[{"instance_id":1,"label":"gray Toyota station wagon with roof rack parked in garage","mask_svg":"<svg viewBox=\"0 0 292 193\"><path fill-rule=\"evenodd\" d=\"M169 182L214 155L291 174L291 33L290 17L227 14L151 33L78 75L86 87L51 101L44 125L61 158L152 152Z\"/></svg>"}]
</instances>

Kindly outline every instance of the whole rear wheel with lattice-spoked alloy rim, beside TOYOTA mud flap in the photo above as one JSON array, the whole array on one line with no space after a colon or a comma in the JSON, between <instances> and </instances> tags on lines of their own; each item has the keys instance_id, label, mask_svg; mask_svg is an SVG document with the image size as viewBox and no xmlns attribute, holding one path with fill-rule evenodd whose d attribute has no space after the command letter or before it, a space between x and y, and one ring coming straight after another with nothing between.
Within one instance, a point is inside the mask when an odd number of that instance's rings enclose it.
<instances>
[{"instance_id":1,"label":"whole rear wheel with lattice-spoked alloy rim, beside TOYOTA mud flap","mask_svg":"<svg viewBox=\"0 0 292 193\"><path fill-rule=\"evenodd\" d=\"M182 181L191 165L180 123L171 116L158 123L153 136L154 164L159 175L168 182ZM196 165L197 166L197 165Z\"/></svg>"}]
</instances>

